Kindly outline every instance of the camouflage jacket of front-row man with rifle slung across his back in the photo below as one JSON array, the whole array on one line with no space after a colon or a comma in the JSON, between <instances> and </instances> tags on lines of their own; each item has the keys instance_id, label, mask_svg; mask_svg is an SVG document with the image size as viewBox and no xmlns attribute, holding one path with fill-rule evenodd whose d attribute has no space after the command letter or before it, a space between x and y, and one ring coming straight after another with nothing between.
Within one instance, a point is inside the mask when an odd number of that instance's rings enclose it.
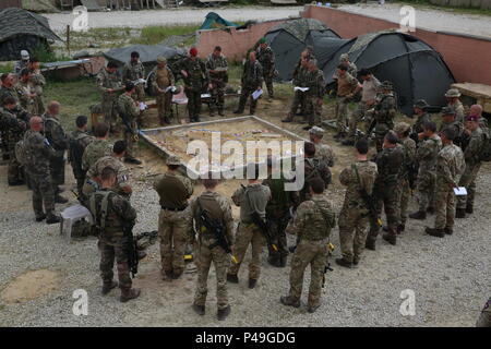
<instances>
[{"instance_id":1,"label":"camouflage jacket of front-row man with rifle slung across his back","mask_svg":"<svg viewBox=\"0 0 491 349\"><path fill-rule=\"evenodd\" d=\"M215 232L206 231L202 220L200 219L201 209L208 213L209 217L221 222L225 228L224 232L230 246L233 244L233 218L231 206L227 197L216 192L205 191L200 196L194 197L190 202L191 214L196 222L196 231L200 237L213 243L216 241ZM213 240L213 241L212 241Z\"/></svg>"}]
</instances>

